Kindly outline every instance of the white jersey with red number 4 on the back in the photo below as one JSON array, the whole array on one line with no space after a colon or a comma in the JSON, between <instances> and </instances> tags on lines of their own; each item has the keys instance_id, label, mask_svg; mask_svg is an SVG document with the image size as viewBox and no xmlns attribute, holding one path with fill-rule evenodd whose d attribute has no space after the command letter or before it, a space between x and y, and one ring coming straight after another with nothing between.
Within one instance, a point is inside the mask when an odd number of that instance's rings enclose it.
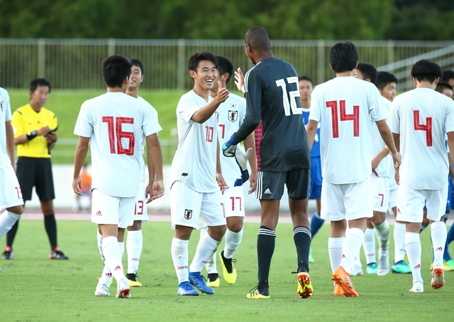
<instances>
[{"instance_id":1,"label":"white jersey with red number 4 on the back","mask_svg":"<svg viewBox=\"0 0 454 322\"><path fill-rule=\"evenodd\" d=\"M394 99L389 127L400 134L399 184L415 190L443 188L449 173L445 132L454 131L454 101L430 88L416 88Z\"/></svg>"}]
</instances>

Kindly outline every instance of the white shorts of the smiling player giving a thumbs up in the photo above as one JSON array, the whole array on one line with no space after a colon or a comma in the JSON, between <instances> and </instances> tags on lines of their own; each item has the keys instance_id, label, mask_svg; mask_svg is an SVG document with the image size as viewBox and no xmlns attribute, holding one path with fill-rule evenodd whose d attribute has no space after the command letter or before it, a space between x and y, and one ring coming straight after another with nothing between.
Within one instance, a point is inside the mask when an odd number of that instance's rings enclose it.
<instances>
[{"instance_id":1,"label":"white shorts of the smiling player giving a thumbs up","mask_svg":"<svg viewBox=\"0 0 454 322\"><path fill-rule=\"evenodd\" d=\"M198 193L175 181L170 188L170 199L172 229L176 225L201 229L227 224L221 191Z\"/></svg>"}]
</instances>

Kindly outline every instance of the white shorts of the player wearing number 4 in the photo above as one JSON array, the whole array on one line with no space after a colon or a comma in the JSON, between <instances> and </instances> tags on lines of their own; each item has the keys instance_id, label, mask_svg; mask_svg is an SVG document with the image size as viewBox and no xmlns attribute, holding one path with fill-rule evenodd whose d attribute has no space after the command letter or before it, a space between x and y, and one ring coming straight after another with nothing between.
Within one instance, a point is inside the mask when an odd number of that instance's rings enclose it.
<instances>
[{"instance_id":1,"label":"white shorts of the player wearing number 4","mask_svg":"<svg viewBox=\"0 0 454 322\"><path fill-rule=\"evenodd\" d=\"M397 193L397 220L404 222L423 222L424 200L427 218L438 221L445 215L448 201L448 183L438 190L416 190L404 185Z\"/></svg>"}]
</instances>

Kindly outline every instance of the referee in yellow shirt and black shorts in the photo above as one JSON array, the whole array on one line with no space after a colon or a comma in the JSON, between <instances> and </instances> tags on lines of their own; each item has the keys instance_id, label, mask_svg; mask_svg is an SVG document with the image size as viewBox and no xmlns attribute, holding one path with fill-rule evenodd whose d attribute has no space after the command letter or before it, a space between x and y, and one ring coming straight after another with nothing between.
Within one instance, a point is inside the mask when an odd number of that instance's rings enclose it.
<instances>
[{"instance_id":1,"label":"referee in yellow shirt and black shorts","mask_svg":"<svg viewBox=\"0 0 454 322\"><path fill-rule=\"evenodd\" d=\"M21 185L24 207L31 200L33 186L41 202L45 231L50 242L50 259L68 259L57 245L53 199L55 199L50 150L57 141L57 117L44 105L48 101L50 82L43 78L30 83L30 104L19 107L13 113L14 143L17 146L17 178ZM13 259L13 241L18 221L8 232L2 259Z\"/></svg>"}]
</instances>

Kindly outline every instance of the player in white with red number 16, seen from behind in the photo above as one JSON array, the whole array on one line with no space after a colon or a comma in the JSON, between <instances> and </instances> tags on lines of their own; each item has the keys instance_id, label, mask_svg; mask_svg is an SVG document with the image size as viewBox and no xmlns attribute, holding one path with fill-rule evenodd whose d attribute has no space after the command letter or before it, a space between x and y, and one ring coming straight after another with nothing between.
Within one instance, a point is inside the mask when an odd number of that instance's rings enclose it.
<instances>
[{"instance_id":1,"label":"player in white with red number 16, seen from behind","mask_svg":"<svg viewBox=\"0 0 454 322\"><path fill-rule=\"evenodd\" d=\"M123 272L124 231L133 224L135 197L140 182L140 136L145 135L152 149L156 178L153 197L164 194L162 152L157 132L157 115L147 102L126 95L131 83L131 63L120 55L106 58L102 73L107 92L87 100L80 108L74 134L80 136L74 159L74 193L82 195L79 176L91 139L92 222L103 236L102 254L106 265L96 286L96 296L109 296L104 279L110 269L117 281L116 297L130 298L130 286Z\"/></svg>"}]
</instances>

